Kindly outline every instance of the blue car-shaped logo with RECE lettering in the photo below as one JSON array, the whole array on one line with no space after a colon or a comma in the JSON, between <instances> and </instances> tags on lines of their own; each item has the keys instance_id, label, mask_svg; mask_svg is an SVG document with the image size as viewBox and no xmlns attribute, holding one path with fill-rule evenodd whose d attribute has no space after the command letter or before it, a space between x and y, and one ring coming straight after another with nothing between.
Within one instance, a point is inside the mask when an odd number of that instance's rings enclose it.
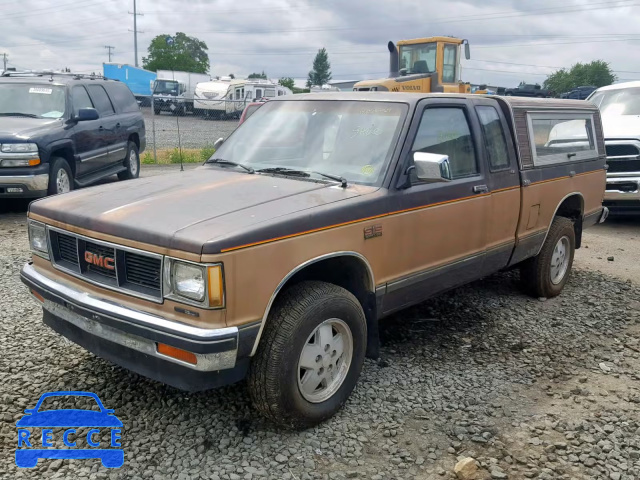
<instances>
[{"instance_id":1,"label":"blue car-shaped logo with RECE lettering","mask_svg":"<svg viewBox=\"0 0 640 480\"><path fill-rule=\"evenodd\" d=\"M41 409L42 402L50 397L90 397L95 400L99 411L86 409ZM114 411L104 407L100 398L91 392L47 392L44 393L34 408L25 410L24 415L16 422L18 427L18 448L16 449L16 465L21 468L33 468L39 459L89 459L99 458L107 468L119 468L124 463L124 450L120 444L122 422L114 415ZM63 429L54 438L53 428ZM77 429L90 428L86 435ZM30 429L42 429L41 436L32 435ZM98 436L109 429L108 447ZM87 447L77 447L79 441L86 440ZM66 448L55 448L64 446Z\"/></svg>"}]
</instances>

